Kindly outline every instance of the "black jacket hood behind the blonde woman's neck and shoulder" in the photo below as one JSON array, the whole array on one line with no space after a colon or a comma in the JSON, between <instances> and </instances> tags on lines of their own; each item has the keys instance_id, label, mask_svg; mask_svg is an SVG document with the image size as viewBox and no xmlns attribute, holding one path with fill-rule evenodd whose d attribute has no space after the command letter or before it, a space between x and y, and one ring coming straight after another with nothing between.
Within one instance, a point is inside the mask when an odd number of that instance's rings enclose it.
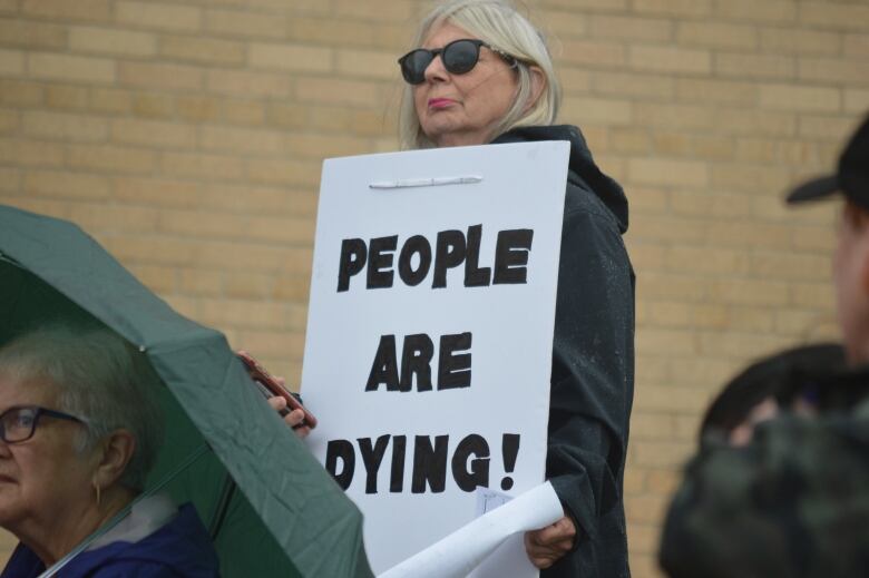
<instances>
[{"instance_id":1,"label":"black jacket hood behind the blonde woman's neck and shoulder","mask_svg":"<svg viewBox=\"0 0 869 578\"><path fill-rule=\"evenodd\" d=\"M627 197L622 186L604 174L595 164L592 151L578 127L570 125L516 127L499 136L492 144L533 143L536 140L567 140L570 159L567 180L596 195L618 221L618 229L627 231Z\"/></svg>"}]
</instances>

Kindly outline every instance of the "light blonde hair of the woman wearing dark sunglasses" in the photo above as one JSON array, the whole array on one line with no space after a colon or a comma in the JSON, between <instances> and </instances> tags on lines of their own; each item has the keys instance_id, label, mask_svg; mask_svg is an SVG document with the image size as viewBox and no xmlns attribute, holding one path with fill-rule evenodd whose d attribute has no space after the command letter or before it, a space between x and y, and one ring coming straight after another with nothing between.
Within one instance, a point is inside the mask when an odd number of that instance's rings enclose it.
<instances>
[{"instance_id":1,"label":"light blonde hair of the woman wearing dark sunglasses","mask_svg":"<svg viewBox=\"0 0 869 578\"><path fill-rule=\"evenodd\" d=\"M420 23L413 46L420 46L429 32L449 22L470 36L515 58L519 89L516 100L496 127L492 137L517 126L551 125L558 115L562 95L555 67L543 33L507 0L451 0L436 7ZM543 91L534 97L530 67L545 77ZM399 112L399 141L402 149L432 148L434 144L422 131L413 105L413 87L407 85Z\"/></svg>"}]
</instances>

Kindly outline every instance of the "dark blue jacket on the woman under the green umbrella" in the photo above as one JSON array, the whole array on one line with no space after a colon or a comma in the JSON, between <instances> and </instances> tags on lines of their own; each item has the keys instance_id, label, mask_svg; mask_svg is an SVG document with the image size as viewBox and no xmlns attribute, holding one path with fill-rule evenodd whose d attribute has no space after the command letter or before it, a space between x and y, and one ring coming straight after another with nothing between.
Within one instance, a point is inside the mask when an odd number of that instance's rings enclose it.
<instances>
[{"instance_id":1,"label":"dark blue jacket on the woman under the green umbrella","mask_svg":"<svg viewBox=\"0 0 869 578\"><path fill-rule=\"evenodd\" d=\"M19 543L0 578L36 578L46 567ZM216 578L217 555L193 506L185 504L166 526L138 542L111 542L78 555L64 578Z\"/></svg>"}]
</instances>

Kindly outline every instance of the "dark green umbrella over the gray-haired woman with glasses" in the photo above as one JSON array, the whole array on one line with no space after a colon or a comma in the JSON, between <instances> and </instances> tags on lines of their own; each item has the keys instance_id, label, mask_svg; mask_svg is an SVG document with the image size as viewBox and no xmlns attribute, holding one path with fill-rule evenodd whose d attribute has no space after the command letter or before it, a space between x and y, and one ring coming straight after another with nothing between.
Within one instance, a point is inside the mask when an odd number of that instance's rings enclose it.
<instances>
[{"instance_id":1,"label":"dark green umbrella over the gray-haired woman with glasses","mask_svg":"<svg viewBox=\"0 0 869 578\"><path fill-rule=\"evenodd\" d=\"M175 313L76 225L0 205L0 344L76 316L137 346L163 380L166 440L148 488L174 473L166 488L196 506L223 576L372 576L361 513L221 333Z\"/></svg>"}]
</instances>

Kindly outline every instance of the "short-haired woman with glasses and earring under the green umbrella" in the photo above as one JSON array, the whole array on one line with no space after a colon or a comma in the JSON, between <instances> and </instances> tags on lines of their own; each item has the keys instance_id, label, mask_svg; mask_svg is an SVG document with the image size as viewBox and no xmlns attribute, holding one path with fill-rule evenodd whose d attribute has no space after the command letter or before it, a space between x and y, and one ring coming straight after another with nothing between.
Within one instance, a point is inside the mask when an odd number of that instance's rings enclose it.
<instances>
[{"instance_id":1,"label":"short-haired woman with glasses and earring under the green umbrella","mask_svg":"<svg viewBox=\"0 0 869 578\"><path fill-rule=\"evenodd\" d=\"M20 540L2 578L39 576L130 504L60 576L218 576L192 506L134 501L162 441L156 379L101 327L50 326L0 349L0 526Z\"/></svg>"}]
</instances>

